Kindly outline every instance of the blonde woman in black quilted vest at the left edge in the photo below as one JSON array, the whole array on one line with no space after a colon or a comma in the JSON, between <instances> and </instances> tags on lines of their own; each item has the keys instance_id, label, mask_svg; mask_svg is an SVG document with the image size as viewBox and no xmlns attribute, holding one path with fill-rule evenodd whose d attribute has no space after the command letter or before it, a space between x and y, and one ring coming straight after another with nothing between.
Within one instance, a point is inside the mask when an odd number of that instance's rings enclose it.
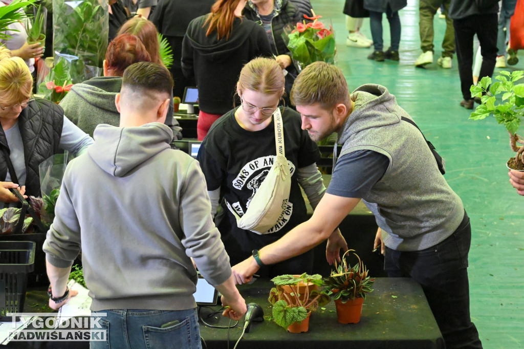
<instances>
[{"instance_id":1,"label":"blonde woman in black quilted vest at the left edge","mask_svg":"<svg viewBox=\"0 0 524 349\"><path fill-rule=\"evenodd\" d=\"M60 106L34 99L27 64L7 56L0 60L0 206L18 201L9 188L40 197L40 163L63 150L78 155L93 143Z\"/></svg>"}]
</instances>

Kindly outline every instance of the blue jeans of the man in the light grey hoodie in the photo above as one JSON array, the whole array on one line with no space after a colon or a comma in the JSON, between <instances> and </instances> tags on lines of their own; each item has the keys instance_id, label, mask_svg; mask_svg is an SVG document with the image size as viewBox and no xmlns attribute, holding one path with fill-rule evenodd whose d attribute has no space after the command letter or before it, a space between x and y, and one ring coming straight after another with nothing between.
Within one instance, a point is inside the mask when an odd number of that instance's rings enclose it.
<instances>
[{"instance_id":1,"label":"blue jeans of the man in the light grey hoodie","mask_svg":"<svg viewBox=\"0 0 524 349\"><path fill-rule=\"evenodd\" d=\"M101 317L99 313L107 313ZM90 343L91 349L177 348L201 349L196 308L189 310L112 309L93 312L101 317L106 342ZM163 324L177 324L161 328Z\"/></svg>"}]
</instances>

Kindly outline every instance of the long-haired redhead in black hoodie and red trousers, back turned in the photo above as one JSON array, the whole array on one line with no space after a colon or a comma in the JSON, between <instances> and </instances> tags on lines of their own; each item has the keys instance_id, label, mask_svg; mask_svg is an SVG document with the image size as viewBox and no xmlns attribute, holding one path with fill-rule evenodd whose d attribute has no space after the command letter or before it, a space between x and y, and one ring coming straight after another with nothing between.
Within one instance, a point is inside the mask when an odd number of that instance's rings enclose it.
<instances>
[{"instance_id":1,"label":"long-haired redhead in black hoodie and red trousers, back turned","mask_svg":"<svg viewBox=\"0 0 524 349\"><path fill-rule=\"evenodd\" d=\"M271 57L264 29L242 18L245 4L246 0L218 0L210 14L191 21L182 41L182 72L195 79L199 91L199 140L233 107L244 64L255 57Z\"/></svg>"}]
</instances>

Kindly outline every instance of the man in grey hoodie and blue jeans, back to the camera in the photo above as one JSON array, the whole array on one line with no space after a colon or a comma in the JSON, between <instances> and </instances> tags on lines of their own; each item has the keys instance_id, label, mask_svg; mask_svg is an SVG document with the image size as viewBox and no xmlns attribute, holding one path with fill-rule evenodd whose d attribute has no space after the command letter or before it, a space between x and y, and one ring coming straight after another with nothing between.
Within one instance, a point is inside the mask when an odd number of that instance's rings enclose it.
<instances>
[{"instance_id":1,"label":"man in grey hoodie and blue jeans, back to the camera","mask_svg":"<svg viewBox=\"0 0 524 349\"><path fill-rule=\"evenodd\" d=\"M49 305L58 309L67 301L69 272L81 248L91 310L107 313L108 342L92 347L145 339L158 347L197 347L191 258L230 306L225 316L239 319L246 312L199 164L169 147L173 134L163 121L171 91L165 67L129 66L115 101L120 127L97 127L91 151L64 174L43 247Z\"/></svg>"}]
</instances>

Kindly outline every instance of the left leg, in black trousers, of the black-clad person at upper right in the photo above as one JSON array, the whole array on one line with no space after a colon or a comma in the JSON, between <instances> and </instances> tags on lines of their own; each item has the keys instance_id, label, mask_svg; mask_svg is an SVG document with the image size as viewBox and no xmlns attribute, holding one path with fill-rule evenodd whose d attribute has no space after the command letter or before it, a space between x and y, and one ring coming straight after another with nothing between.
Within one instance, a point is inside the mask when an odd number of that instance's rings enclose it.
<instances>
[{"instance_id":1,"label":"left leg, in black trousers, of the black-clad person at upper right","mask_svg":"<svg viewBox=\"0 0 524 349\"><path fill-rule=\"evenodd\" d=\"M453 21L455 28L455 48L459 61L459 76L463 101L461 106L473 109L470 88L473 85L473 37L475 35L476 16L469 16ZM481 42L482 45L482 42Z\"/></svg>"}]
</instances>

